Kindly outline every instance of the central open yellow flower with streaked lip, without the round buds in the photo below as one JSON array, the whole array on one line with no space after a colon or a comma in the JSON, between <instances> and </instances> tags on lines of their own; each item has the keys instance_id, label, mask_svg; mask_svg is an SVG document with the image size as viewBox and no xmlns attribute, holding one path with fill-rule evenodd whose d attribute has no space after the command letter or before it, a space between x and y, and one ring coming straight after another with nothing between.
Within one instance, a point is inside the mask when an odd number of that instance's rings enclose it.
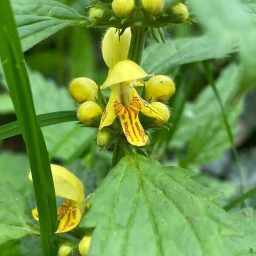
<instances>
[{"instance_id":1,"label":"central open yellow flower with streaked lip, without the round buds","mask_svg":"<svg viewBox=\"0 0 256 256\"><path fill-rule=\"evenodd\" d=\"M128 142L132 145L143 146L148 143L148 136L140 123L139 112L155 119L162 119L162 117L154 107L139 96L134 88L134 86L139 86L138 79L143 79L148 74L135 62L124 60L124 56L127 58L128 55L130 41L124 40L122 44L117 43L119 35L111 32L113 28L109 31L102 41L102 55L110 70L106 81L100 88L110 87L111 93L102 114L99 130L111 125L118 116ZM116 52L125 52L125 54L120 55Z\"/></svg>"}]
</instances>

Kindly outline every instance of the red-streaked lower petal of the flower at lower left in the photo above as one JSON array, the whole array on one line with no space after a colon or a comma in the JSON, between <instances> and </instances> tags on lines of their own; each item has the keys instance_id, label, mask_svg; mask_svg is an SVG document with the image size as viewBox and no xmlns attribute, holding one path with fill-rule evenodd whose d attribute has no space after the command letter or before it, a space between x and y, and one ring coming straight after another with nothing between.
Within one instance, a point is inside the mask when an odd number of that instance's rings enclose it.
<instances>
[{"instance_id":1,"label":"red-streaked lower petal of the flower at lower left","mask_svg":"<svg viewBox=\"0 0 256 256\"><path fill-rule=\"evenodd\" d=\"M60 219L60 223L58 230L55 233L62 233L72 230L79 224L82 217L79 204L70 199L67 199L63 204L61 204L57 214L58 218Z\"/></svg>"}]
</instances>

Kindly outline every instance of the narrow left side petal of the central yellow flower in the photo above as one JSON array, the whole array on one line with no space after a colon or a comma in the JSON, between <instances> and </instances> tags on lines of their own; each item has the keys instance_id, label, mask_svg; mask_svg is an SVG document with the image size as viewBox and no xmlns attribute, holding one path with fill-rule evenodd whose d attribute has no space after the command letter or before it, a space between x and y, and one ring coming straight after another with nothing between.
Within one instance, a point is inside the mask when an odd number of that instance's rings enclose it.
<instances>
[{"instance_id":1,"label":"narrow left side petal of the central yellow flower","mask_svg":"<svg viewBox=\"0 0 256 256\"><path fill-rule=\"evenodd\" d=\"M115 113L115 108L114 104L117 102L116 96L113 90L111 90L110 93L110 98L108 101L108 104L102 114L102 118L100 120L100 125L99 125L99 130L101 130L103 127L111 125L115 118L116 118L116 113Z\"/></svg>"}]
</instances>

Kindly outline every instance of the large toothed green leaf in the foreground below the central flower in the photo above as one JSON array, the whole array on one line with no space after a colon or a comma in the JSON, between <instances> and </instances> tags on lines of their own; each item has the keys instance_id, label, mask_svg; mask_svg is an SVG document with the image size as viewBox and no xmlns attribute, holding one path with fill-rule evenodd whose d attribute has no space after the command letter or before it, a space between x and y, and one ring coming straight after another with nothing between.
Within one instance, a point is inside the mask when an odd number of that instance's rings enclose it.
<instances>
[{"instance_id":1,"label":"large toothed green leaf in the foreground below the central flower","mask_svg":"<svg viewBox=\"0 0 256 256\"><path fill-rule=\"evenodd\" d=\"M124 157L89 199L89 256L238 256L255 251L256 222L230 214L218 195L175 166ZM255 253L251 254L255 254Z\"/></svg>"}]
</instances>

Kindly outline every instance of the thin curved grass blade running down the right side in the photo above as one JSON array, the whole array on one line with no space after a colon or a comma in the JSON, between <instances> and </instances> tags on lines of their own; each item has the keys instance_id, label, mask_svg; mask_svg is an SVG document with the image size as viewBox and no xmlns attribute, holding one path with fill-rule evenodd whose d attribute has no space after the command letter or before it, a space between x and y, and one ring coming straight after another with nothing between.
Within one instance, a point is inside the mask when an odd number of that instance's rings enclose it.
<instances>
[{"instance_id":1,"label":"thin curved grass blade running down the right side","mask_svg":"<svg viewBox=\"0 0 256 256\"><path fill-rule=\"evenodd\" d=\"M216 99L218 100L218 103L219 103L220 108L221 108L221 113L222 113L222 117L223 117L224 124L225 124L225 127L226 127L227 135L229 137L229 140L230 140L230 143L231 143L234 155L235 155L235 159L236 159L236 166L237 166L237 171L238 171L239 180L240 180L240 193L242 195L244 193L244 185L243 185L243 179L242 179L242 172L241 172L241 164L240 164L240 160L239 160L239 154L238 154L236 145L234 143L234 137L233 137L233 134L232 134L232 131L231 131L231 128L230 128L230 124L227 120L224 105L221 101L221 97L220 97L220 95L218 93L218 90L215 86L212 71L210 70L210 67L209 67L209 62L208 61L202 61L202 65L204 67L204 72L205 72L205 75L207 77L207 80L209 81L209 84L211 85L213 93L214 93ZM244 201L241 201L241 208L243 208L243 207L245 207L245 204L244 204Z\"/></svg>"}]
</instances>

